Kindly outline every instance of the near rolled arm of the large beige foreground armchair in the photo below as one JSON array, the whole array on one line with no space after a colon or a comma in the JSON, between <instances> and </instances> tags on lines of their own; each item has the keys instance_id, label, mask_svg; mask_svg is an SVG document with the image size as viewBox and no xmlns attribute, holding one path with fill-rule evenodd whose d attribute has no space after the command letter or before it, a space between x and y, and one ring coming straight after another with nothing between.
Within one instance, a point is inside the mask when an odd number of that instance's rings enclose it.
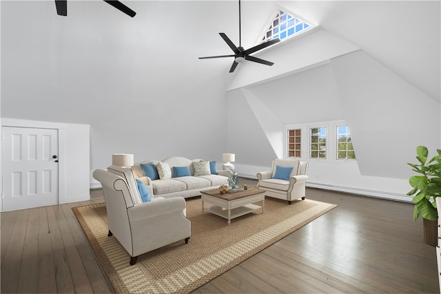
<instances>
[{"instance_id":1,"label":"near rolled arm of the large beige foreground armchair","mask_svg":"<svg viewBox=\"0 0 441 294\"><path fill-rule=\"evenodd\" d=\"M165 198L137 204L127 209L130 222L137 222L147 218L155 218L165 214L174 213L185 209L185 200L182 197Z\"/></svg>"}]
</instances>

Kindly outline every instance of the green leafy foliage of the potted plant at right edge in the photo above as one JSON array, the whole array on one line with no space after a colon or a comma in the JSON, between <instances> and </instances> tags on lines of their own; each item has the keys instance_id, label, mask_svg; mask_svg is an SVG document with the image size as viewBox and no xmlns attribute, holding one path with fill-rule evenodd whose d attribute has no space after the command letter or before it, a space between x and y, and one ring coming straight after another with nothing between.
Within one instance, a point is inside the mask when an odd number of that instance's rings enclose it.
<instances>
[{"instance_id":1,"label":"green leafy foliage of the potted plant at right edge","mask_svg":"<svg viewBox=\"0 0 441 294\"><path fill-rule=\"evenodd\" d=\"M415 195L412 202L413 220L419 216L427 220L437 220L436 202L432 199L441 196L441 150L437 149L438 155L433 156L429 161L429 149L424 146L416 147L416 159L419 164L407 163L412 167L418 176L411 176L409 184L413 188L407 195Z\"/></svg>"}]
</instances>

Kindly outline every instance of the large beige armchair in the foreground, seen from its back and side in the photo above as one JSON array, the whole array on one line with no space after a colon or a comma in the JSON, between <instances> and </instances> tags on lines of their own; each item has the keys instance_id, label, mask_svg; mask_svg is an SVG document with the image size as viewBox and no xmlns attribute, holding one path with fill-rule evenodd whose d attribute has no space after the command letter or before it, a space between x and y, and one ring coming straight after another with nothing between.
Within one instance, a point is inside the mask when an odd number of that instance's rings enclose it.
<instances>
[{"instance_id":1,"label":"large beige armchair in the foreground, seen from its back and side","mask_svg":"<svg viewBox=\"0 0 441 294\"><path fill-rule=\"evenodd\" d=\"M131 172L126 169L123 174ZM103 187L108 236L114 235L130 254L130 265L143 253L179 240L188 242L192 229L185 217L184 198L158 197L142 202L136 183L131 182L133 176L123 178L103 169L96 169L93 176Z\"/></svg>"}]
</instances>

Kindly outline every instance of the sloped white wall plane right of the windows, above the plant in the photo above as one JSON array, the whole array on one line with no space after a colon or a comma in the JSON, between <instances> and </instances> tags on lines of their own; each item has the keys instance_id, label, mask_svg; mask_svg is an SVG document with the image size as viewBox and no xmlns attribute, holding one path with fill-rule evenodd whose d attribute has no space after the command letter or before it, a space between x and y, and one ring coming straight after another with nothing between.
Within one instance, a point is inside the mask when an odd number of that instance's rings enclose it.
<instances>
[{"instance_id":1,"label":"sloped white wall plane right of the windows, above the plant","mask_svg":"<svg viewBox=\"0 0 441 294\"><path fill-rule=\"evenodd\" d=\"M365 52L332 59L361 174L408 179L416 147L440 148L440 102ZM433 154L434 155L434 154Z\"/></svg>"}]
</instances>

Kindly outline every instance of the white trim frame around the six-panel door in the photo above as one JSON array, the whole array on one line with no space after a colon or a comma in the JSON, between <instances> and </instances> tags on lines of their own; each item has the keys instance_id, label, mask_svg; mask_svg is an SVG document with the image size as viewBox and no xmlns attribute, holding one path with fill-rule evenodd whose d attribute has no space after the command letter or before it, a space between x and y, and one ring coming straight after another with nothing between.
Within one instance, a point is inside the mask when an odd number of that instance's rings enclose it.
<instances>
[{"instance_id":1,"label":"white trim frame around the six-panel door","mask_svg":"<svg viewBox=\"0 0 441 294\"><path fill-rule=\"evenodd\" d=\"M63 123L52 123L43 122L37 120L22 120L16 118L1 118L1 138L2 143L0 144L0 174L3 175L3 127L30 127L37 129L57 129L58 130L58 157L59 157L59 168L58 168L58 200L59 203L63 203L66 198L66 187L65 187L65 174L66 174L66 126ZM0 191L3 193L3 176L0 180ZM3 198L3 195L1 195ZM3 211L3 200L0 201L0 211Z\"/></svg>"}]
</instances>

